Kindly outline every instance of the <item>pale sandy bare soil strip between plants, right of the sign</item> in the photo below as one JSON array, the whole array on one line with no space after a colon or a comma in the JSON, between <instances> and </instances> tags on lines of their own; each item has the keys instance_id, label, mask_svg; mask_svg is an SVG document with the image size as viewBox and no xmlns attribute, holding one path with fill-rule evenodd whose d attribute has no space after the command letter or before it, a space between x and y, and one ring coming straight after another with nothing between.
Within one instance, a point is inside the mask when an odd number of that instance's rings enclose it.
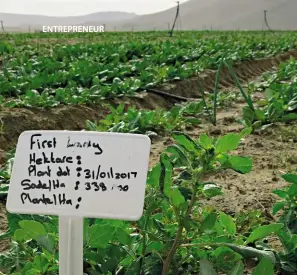
<instances>
[{"instance_id":1,"label":"pale sandy bare soil strip between plants, right of the sign","mask_svg":"<svg viewBox=\"0 0 297 275\"><path fill-rule=\"evenodd\" d=\"M239 103L228 110L221 110L218 113L217 126L203 123L193 131L187 131L187 134L198 139L202 133L219 137L240 132L243 127L236 121L241 116L243 106ZM296 126L297 122L274 125L263 133L247 136L234 153L251 157L252 171L241 175L228 170L208 178L208 181L214 181L223 187L224 195L201 203L230 214L247 209L262 209L264 214L271 218L271 207L277 198L271 193L272 190L285 185L285 181L280 177L282 173L292 172L297 168ZM159 161L160 153L171 143L169 137L153 143L151 166Z\"/></svg>"}]
</instances>

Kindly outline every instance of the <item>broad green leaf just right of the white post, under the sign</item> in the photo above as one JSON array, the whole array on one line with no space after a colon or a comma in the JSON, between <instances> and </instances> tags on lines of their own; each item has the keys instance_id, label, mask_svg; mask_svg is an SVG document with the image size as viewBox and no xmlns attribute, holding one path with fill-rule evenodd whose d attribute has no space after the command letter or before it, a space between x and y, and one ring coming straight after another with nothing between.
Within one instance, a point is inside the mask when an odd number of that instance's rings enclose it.
<instances>
[{"instance_id":1,"label":"broad green leaf just right of the white post, under the sign","mask_svg":"<svg viewBox=\"0 0 297 275\"><path fill-rule=\"evenodd\" d=\"M95 224L89 228L89 246L92 248L106 248L112 240L115 228L110 225Z\"/></svg>"}]
</instances>

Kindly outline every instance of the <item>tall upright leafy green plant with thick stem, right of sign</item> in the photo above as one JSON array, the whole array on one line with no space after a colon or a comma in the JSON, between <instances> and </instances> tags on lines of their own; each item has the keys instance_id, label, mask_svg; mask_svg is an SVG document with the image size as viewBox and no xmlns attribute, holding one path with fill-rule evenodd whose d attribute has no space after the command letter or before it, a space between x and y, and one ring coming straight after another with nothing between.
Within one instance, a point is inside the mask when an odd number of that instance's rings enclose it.
<instances>
[{"instance_id":1,"label":"tall upright leafy green plant with thick stem, right of sign","mask_svg":"<svg viewBox=\"0 0 297 275\"><path fill-rule=\"evenodd\" d=\"M228 154L229 151L236 149L240 139L247 133L248 131L245 130L240 134L228 134L216 141L203 134L198 142L183 133L173 135L177 145L168 148L168 152L172 153L171 157L165 154L161 155L161 168L163 167L165 177L163 181L160 180L160 183L163 182L161 192L171 201L178 228L175 232L174 241L164 258L162 274L167 274L170 269L170 263L181 245L180 242L186 224L193 222L191 215L194 207L197 207L199 195L215 196L221 193L216 184L203 182L203 177L207 173L214 173L222 169L230 168L239 173L248 173L251 170L251 159ZM174 167L184 167L183 171L177 176L179 181L177 186L166 180L166 172L172 173L170 172L172 171L172 168L170 168L171 162ZM170 178L169 175L167 176L168 179ZM195 212L197 212L197 209ZM235 234L236 228L232 218L221 213L220 223L230 235ZM199 228L198 224L196 226ZM213 226L214 223L212 222L211 227Z\"/></svg>"}]
</instances>

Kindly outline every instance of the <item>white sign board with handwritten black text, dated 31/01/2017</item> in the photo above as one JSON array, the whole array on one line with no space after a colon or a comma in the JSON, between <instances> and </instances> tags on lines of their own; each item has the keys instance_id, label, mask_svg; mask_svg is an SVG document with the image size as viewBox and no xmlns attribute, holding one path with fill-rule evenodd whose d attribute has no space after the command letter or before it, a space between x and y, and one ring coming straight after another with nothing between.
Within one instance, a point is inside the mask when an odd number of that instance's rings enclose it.
<instances>
[{"instance_id":1,"label":"white sign board with handwritten black text, dated 31/01/2017","mask_svg":"<svg viewBox=\"0 0 297 275\"><path fill-rule=\"evenodd\" d=\"M144 135L27 131L7 199L12 213L138 220L150 139Z\"/></svg>"}]
</instances>

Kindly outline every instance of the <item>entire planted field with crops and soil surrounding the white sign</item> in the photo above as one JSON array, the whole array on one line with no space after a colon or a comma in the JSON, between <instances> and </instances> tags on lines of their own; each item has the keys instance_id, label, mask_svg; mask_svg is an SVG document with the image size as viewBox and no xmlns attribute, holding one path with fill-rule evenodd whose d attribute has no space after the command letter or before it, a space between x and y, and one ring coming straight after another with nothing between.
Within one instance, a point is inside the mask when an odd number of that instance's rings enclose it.
<instances>
[{"instance_id":1,"label":"entire planted field with crops and soil surrounding the white sign","mask_svg":"<svg viewBox=\"0 0 297 275\"><path fill-rule=\"evenodd\" d=\"M5 211L18 136L39 129L152 140L144 215L86 219L86 274L297 273L296 32L0 39L3 274L57 274L57 219Z\"/></svg>"}]
</instances>

